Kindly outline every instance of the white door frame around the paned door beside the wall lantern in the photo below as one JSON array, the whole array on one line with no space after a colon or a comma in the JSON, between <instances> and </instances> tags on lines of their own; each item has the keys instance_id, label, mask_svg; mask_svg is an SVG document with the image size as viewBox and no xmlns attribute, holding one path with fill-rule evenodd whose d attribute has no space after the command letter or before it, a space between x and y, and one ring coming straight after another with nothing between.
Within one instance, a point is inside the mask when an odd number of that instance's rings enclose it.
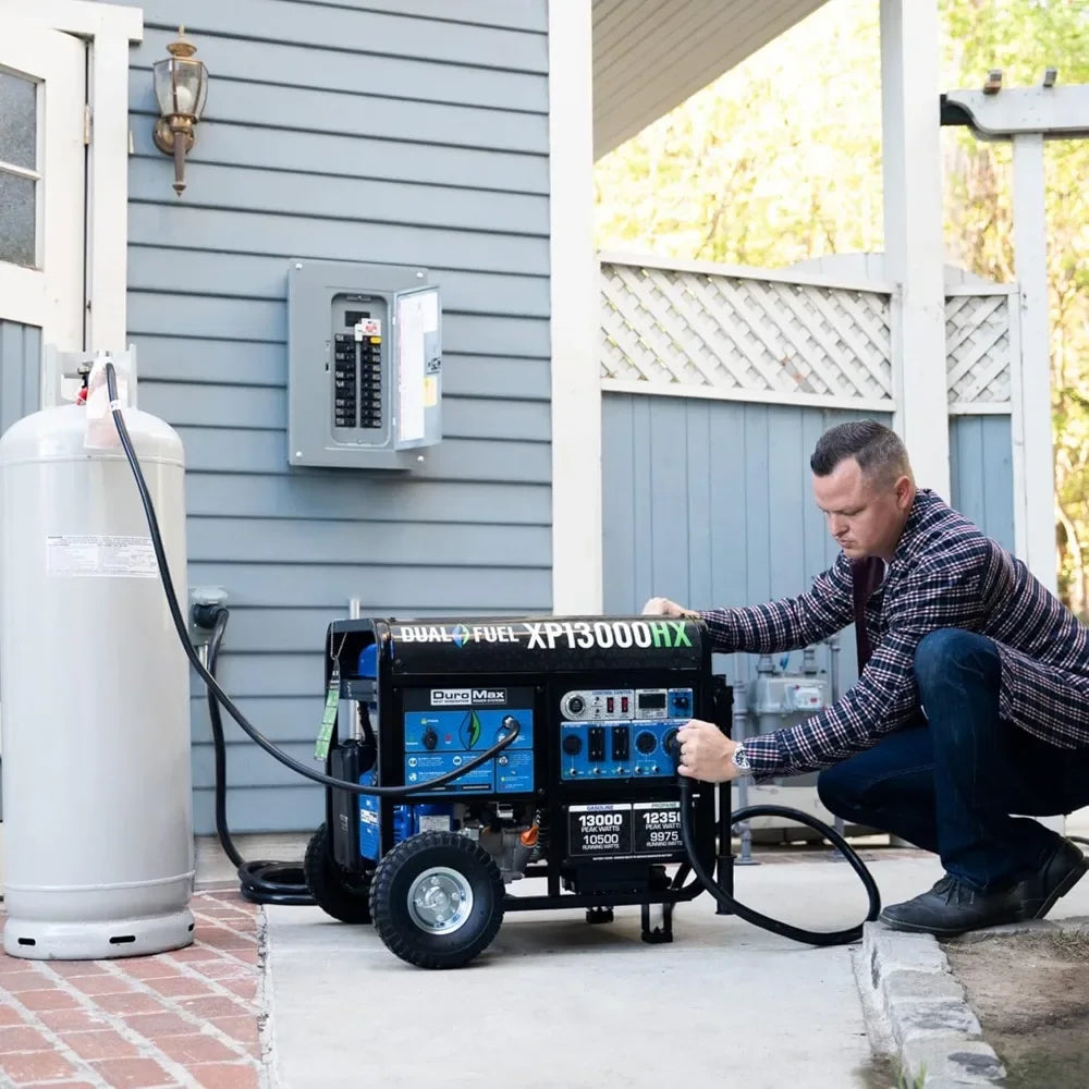
<instances>
[{"instance_id":1,"label":"white door frame around the paned door beside the wall lantern","mask_svg":"<svg viewBox=\"0 0 1089 1089\"><path fill-rule=\"evenodd\" d=\"M9 14L88 42L85 347L88 352L123 351L129 280L129 47L143 40L144 13L139 8L91 0L35 0L33 5L26 0L0 0L0 15Z\"/></svg>"}]
</instances>

